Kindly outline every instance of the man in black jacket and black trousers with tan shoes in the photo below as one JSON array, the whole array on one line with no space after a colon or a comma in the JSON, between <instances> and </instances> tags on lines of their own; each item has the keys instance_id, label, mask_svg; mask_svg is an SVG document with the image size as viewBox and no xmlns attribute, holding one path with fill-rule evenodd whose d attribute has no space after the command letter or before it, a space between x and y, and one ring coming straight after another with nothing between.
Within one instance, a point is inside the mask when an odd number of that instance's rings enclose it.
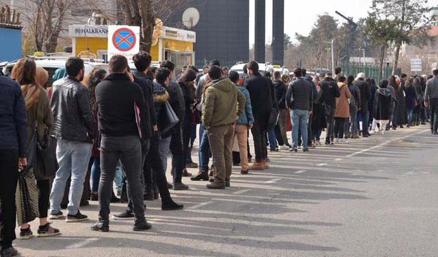
<instances>
[{"instance_id":1,"label":"man in black jacket and black trousers with tan shoes","mask_svg":"<svg viewBox=\"0 0 438 257\"><path fill-rule=\"evenodd\" d=\"M255 163L249 169L268 169L268 152L266 151L266 132L272 108L276 107L276 97L272 81L259 73L259 64L255 61L248 63L250 77L244 86L248 89L253 107L254 125L251 129L254 138ZM270 96L270 97L268 97Z\"/></svg>"}]
</instances>

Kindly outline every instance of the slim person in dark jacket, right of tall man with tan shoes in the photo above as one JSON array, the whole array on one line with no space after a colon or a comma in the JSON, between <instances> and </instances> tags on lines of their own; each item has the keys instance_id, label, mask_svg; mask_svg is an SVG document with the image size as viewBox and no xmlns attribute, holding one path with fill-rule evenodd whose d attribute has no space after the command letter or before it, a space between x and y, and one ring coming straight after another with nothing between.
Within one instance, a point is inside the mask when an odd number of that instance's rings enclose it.
<instances>
[{"instance_id":1,"label":"slim person in dark jacket, right of tall man with tan shoes","mask_svg":"<svg viewBox=\"0 0 438 257\"><path fill-rule=\"evenodd\" d=\"M274 85L276 100L279 105L279 122L275 125L275 136L279 145L285 145L290 147L287 142L286 124L287 124L287 106L286 106L286 85L281 81L281 73L279 71L274 72Z\"/></svg>"}]
</instances>

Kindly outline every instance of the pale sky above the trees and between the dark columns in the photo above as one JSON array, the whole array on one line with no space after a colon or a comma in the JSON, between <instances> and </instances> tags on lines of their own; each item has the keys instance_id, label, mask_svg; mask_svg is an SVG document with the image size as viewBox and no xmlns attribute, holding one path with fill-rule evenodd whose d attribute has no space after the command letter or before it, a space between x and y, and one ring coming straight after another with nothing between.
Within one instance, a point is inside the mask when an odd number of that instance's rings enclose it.
<instances>
[{"instance_id":1,"label":"pale sky above the trees and between the dark columns","mask_svg":"<svg viewBox=\"0 0 438 257\"><path fill-rule=\"evenodd\" d=\"M272 1L266 0L266 42L272 41ZM294 41L295 33L307 36L318 15L325 12L335 19L345 21L335 14L338 11L345 16L354 17L354 21L368 16L372 0L285 0L285 34ZM430 6L437 6L438 0L429 0ZM250 45L254 43L254 0L250 0Z\"/></svg>"}]
</instances>

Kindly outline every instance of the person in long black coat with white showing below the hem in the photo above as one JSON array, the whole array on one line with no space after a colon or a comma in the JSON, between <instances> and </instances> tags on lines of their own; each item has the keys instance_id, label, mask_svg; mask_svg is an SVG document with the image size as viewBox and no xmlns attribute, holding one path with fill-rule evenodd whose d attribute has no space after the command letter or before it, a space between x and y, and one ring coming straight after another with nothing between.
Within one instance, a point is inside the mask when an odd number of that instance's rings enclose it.
<instances>
[{"instance_id":1,"label":"person in long black coat with white showing below the hem","mask_svg":"<svg viewBox=\"0 0 438 257\"><path fill-rule=\"evenodd\" d=\"M384 133L385 127L391 117L391 90L389 90L387 86L387 79L383 79L380 88L378 88L374 94L373 132L376 130L377 123L380 123L382 133Z\"/></svg>"}]
</instances>

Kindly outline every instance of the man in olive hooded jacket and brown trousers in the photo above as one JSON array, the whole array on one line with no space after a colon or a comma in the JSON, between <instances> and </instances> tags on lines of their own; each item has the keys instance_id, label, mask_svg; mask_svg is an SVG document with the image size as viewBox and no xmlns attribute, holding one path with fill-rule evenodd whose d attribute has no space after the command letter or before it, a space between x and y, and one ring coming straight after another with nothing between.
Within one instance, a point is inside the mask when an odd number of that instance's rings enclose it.
<instances>
[{"instance_id":1,"label":"man in olive hooded jacket and brown trousers","mask_svg":"<svg viewBox=\"0 0 438 257\"><path fill-rule=\"evenodd\" d=\"M208 133L216 175L207 188L224 189L230 186L233 166L233 123L242 115L246 98L229 78L222 78L220 67L211 66L209 77L212 81L205 90L202 121Z\"/></svg>"}]
</instances>

